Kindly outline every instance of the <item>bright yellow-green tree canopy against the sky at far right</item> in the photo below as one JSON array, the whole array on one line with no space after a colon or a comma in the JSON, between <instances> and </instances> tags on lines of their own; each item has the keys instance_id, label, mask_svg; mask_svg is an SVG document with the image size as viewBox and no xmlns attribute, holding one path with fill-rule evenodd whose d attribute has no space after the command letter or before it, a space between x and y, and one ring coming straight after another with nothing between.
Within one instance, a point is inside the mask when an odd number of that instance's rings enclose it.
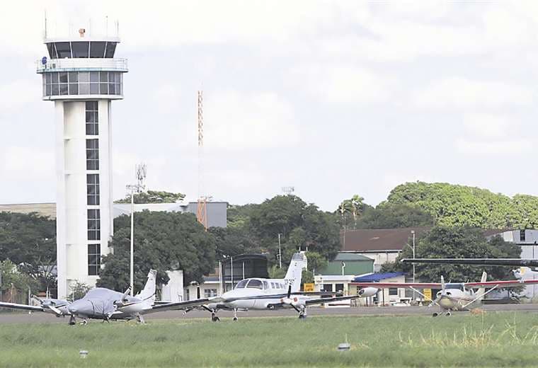
<instances>
[{"instance_id":1,"label":"bright yellow-green tree canopy against the sky at far right","mask_svg":"<svg viewBox=\"0 0 538 368\"><path fill-rule=\"evenodd\" d=\"M538 226L538 197L510 198L489 190L447 183L405 183L391 190L382 205L423 209L443 226L483 229L534 229Z\"/></svg>"}]
</instances>

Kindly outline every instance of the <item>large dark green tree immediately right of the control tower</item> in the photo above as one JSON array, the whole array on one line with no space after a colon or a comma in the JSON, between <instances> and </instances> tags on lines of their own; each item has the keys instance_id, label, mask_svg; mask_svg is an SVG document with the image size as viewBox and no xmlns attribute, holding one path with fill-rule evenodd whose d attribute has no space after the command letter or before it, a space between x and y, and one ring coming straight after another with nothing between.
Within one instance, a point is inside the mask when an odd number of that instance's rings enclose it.
<instances>
[{"instance_id":1,"label":"large dark green tree immediately right of the control tower","mask_svg":"<svg viewBox=\"0 0 538 368\"><path fill-rule=\"evenodd\" d=\"M129 285L130 217L114 221L110 241L114 253L103 256L104 268L98 286L125 290ZM178 212L137 212L135 214L135 290L146 282L151 268L157 282L168 282L167 270L183 270L185 284L202 281L214 270L215 237L206 232L193 214Z\"/></svg>"}]
</instances>

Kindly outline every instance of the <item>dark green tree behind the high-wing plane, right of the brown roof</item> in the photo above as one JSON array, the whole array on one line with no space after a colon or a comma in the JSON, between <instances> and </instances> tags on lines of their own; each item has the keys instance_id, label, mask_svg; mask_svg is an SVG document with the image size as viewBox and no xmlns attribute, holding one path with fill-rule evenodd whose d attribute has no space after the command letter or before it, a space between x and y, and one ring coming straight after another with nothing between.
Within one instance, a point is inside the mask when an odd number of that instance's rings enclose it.
<instances>
[{"instance_id":1,"label":"dark green tree behind the high-wing plane, right of the brown roof","mask_svg":"<svg viewBox=\"0 0 538 368\"><path fill-rule=\"evenodd\" d=\"M416 258L519 258L521 248L496 236L487 241L480 229L437 226L416 239ZM401 263L401 258L413 258L411 247L404 247L396 262L385 263L383 272L411 272L413 266ZM475 265L416 265L416 277L425 282L439 282L441 275L453 282L479 281L482 271L490 280L513 278L510 268L477 267Z\"/></svg>"}]
</instances>

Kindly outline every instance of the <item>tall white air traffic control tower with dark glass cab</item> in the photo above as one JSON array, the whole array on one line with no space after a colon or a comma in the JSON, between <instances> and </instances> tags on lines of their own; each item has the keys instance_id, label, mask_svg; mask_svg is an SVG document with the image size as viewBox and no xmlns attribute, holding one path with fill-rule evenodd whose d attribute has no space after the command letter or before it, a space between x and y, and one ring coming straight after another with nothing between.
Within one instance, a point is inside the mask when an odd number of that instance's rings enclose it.
<instances>
[{"instance_id":1,"label":"tall white air traffic control tower with dark glass cab","mask_svg":"<svg viewBox=\"0 0 538 368\"><path fill-rule=\"evenodd\" d=\"M58 297L75 282L96 284L113 234L112 111L123 98L127 60L115 57L117 37L80 29L47 38L38 60L43 100L55 103Z\"/></svg>"}]
</instances>

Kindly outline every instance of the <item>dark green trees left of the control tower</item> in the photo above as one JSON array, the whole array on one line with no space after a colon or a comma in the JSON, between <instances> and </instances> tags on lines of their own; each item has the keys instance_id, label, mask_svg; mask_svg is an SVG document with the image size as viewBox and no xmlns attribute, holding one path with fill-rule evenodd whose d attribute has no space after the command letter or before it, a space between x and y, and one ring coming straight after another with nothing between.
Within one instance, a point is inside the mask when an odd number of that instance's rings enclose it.
<instances>
[{"instance_id":1,"label":"dark green trees left of the control tower","mask_svg":"<svg viewBox=\"0 0 538 368\"><path fill-rule=\"evenodd\" d=\"M35 213L0 212L0 261L11 260L35 281L39 291L52 289L56 264L56 222ZM35 291L38 291L35 290Z\"/></svg>"}]
</instances>

